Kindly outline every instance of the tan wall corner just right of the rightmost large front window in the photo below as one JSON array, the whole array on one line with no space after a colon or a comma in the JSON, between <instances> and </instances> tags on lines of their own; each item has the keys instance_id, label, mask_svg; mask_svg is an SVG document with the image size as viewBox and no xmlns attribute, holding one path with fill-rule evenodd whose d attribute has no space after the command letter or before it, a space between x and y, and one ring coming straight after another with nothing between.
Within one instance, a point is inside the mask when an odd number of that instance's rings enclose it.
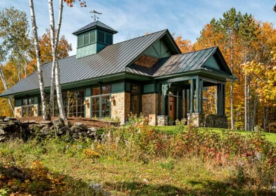
<instances>
[{"instance_id":1,"label":"tan wall corner just right of the rightmost large front window","mask_svg":"<svg viewBox=\"0 0 276 196\"><path fill-rule=\"evenodd\" d=\"M130 93L119 92L112 94L111 97L111 117L119 118L121 124L124 124L130 112Z\"/></svg>"}]
</instances>

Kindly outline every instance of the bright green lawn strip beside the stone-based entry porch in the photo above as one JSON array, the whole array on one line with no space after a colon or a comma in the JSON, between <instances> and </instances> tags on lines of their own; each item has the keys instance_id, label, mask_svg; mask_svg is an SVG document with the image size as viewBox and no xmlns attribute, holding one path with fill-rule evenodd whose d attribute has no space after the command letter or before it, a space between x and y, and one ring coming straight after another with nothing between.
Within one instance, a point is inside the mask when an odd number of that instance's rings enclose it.
<instances>
[{"instance_id":1,"label":"bright green lawn strip beside the stone-based entry porch","mask_svg":"<svg viewBox=\"0 0 276 196\"><path fill-rule=\"evenodd\" d=\"M173 134L175 133L175 126L157 126L157 130L164 131L166 133ZM223 131L231 131L224 128L199 128L202 131L212 131L214 133L222 133ZM249 135L252 133L250 130L233 130L233 132L241 133L242 135ZM262 131L262 135L266 137L266 139L274 144L276 144L276 133L267 133Z\"/></svg>"}]
</instances>

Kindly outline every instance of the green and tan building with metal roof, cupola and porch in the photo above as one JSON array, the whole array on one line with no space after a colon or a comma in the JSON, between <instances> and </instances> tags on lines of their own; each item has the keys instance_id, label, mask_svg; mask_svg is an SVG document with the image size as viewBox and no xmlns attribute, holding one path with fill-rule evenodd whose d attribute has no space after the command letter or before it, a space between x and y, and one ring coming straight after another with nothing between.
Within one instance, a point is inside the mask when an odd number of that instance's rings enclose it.
<instances>
[{"instance_id":1,"label":"green and tan building with metal roof, cupola and porch","mask_svg":"<svg viewBox=\"0 0 276 196\"><path fill-rule=\"evenodd\" d=\"M212 120L222 117L227 125L225 84L234 77L219 48L181 54L168 30L113 44L116 33L100 21L73 32L77 55L59 60L68 116L111 117L124 124L130 112L141 112L151 125L188 118L204 126L203 90L216 86L217 114ZM42 66L48 94L51 67ZM40 115L37 71L0 97L14 99L17 117Z\"/></svg>"}]
</instances>

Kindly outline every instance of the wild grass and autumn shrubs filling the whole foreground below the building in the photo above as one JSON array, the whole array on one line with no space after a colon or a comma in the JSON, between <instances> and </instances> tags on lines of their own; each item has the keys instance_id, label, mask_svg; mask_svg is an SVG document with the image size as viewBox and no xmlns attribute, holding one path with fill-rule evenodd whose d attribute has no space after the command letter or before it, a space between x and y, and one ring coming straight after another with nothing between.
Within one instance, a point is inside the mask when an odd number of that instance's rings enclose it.
<instances>
[{"instance_id":1,"label":"wild grass and autumn shrubs filling the whole foreground below the building","mask_svg":"<svg viewBox=\"0 0 276 196\"><path fill-rule=\"evenodd\" d=\"M275 177L275 144L260 133L166 133L137 118L101 141L0 144L0 195L270 195Z\"/></svg>"}]
</instances>

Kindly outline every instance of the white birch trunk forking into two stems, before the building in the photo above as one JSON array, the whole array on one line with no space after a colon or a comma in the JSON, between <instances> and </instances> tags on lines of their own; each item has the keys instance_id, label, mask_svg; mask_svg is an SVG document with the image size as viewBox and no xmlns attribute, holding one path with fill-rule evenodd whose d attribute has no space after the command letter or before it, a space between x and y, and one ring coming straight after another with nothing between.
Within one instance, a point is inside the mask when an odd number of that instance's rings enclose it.
<instances>
[{"instance_id":1,"label":"white birch trunk forking into two stems, before the building","mask_svg":"<svg viewBox=\"0 0 276 196\"><path fill-rule=\"evenodd\" d=\"M57 44L59 43L59 32L61 28L62 12L63 12L63 0L59 0L59 21L57 24L57 30L55 30L55 17L52 7L52 0L48 0L49 13L50 13L50 39L52 46L52 76L55 76L55 84L57 90L57 105L59 106L59 115L62 119L66 119L66 113L64 112L62 92L60 85L60 75L59 75L59 63L57 61ZM53 70L53 68L55 68ZM54 79L52 78L52 81ZM53 82L51 83L51 85ZM51 90L53 87L51 86ZM53 96L53 94L51 94ZM53 97L52 97L53 99Z\"/></svg>"}]
</instances>

